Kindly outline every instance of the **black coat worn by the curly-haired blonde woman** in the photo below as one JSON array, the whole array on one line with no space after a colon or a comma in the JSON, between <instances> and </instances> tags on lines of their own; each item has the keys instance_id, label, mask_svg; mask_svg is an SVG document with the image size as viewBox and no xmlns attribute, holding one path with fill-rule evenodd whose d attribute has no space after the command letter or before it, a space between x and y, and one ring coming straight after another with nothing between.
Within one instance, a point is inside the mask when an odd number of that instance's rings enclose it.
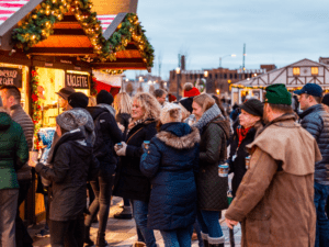
<instances>
[{"instance_id":1,"label":"black coat worn by the curly-haired blonde woman","mask_svg":"<svg viewBox=\"0 0 329 247\"><path fill-rule=\"evenodd\" d=\"M120 159L120 167L115 178L113 194L125 199L148 202L150 195L150 181L140 169L141 144L150 141L156 134L157 122L146 120L134 126L126 138L126 156Z\"/></svg>"}]
</instances>

